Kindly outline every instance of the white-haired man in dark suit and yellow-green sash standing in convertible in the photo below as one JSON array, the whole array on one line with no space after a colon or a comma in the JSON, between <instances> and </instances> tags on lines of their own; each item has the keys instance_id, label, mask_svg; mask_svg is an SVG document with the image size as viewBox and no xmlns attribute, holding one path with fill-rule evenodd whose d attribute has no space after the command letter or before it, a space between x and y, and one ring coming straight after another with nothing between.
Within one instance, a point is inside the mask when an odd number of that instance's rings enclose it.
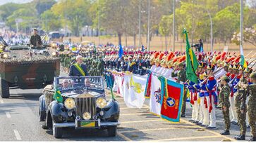
<instances>
[{"instance_id":1,"label":"white-haired man in dark suit and yellow-green sash standing in convertible","mask_svg":"<svg viewBox=\"0 0 256 143\"><path fill-rule=\"evenodd\" d=\"M75 57L75 64L71 65L68 76L88 76L86 65L83 64L83 57L78 55Z\"/></svg>"}]
</instances>

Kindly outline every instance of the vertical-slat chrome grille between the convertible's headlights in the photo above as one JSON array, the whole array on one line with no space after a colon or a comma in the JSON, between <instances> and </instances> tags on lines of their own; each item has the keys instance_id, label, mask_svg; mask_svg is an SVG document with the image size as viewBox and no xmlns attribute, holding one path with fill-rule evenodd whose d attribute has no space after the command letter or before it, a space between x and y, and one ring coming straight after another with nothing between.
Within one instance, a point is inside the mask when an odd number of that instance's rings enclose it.
<instances>
[{"instance_id":1,"label":"vertical-slat chrome grille between the convertible's headlights","mask_svg":"<svg viewBox=\"0 0 256 143\"><path fill-rule=\"evenodd\" d=\"M77 97L75 98L76 116L83 118L83 113L89 112L91 116L96 116L96 98L95 97ZM92 119L92 118L91 118Z\"/></svg>"}]
</instances>

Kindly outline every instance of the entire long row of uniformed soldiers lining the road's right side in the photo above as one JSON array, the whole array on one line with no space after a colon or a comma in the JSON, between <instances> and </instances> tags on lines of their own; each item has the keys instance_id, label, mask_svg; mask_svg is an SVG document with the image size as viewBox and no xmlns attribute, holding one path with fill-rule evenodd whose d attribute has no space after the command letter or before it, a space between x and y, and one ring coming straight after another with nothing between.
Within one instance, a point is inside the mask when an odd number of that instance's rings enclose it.
<instances>
[{"instance_id":1,"label":"entire long row of uniformed soldiers lining the road's right side","mask_svg":"<svg viewBox=\"0 0 256 143\"><path fill-rule=\"evenodd\" d=\"M72 64L75 54L61 55L69 62L63 66ZM156 72L169 79L183 83L186 94L183 99L181 117L185 117L185 101L187 97L193 107L190 121L205 128L216 128L215 109L220 107L224 114L225 128L222 135L229 135L231 121L240 126L240 135L236 139L245 139L246 114L248 113L252 139L256 139L255 131L255 73L252 68L244 68L239 65L240 56L231 53L196 53L199 66L196 74L197 83L188 81L185 72L185 53L135 53L128 52L125 55L113 53L80 53L83 62L87 65L87 71L92 76L102 75L104 69L116 71L130 71L133 74L145 75ZM68 58L67 58L68 57ZM62 60L61 63L65 63ZM254 67L253 62L247 63L248 67ZM102 69L101 69L102 68ZM100 69L100 70L99 70ZM254 69L255 70L255 69ZM249 75L251 74L250 78ZM250 79L249 81L247 79ZM231 121L230 121L231 116ZM254 118L254 119L253 119Z\"/></svg>"}]
</instances>

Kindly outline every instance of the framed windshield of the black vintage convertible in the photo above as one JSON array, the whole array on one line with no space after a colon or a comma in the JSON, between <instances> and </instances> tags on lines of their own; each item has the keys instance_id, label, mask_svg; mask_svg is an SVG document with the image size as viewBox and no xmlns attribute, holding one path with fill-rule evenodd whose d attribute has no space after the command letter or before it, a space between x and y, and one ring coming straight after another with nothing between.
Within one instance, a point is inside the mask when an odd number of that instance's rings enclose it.
<instances>
[{"instance_id":1,"label":"framed windshield of the black vintage convertible","mask_svg":"<svg viewBox=\"0 0 256 143\"><path fill-rule=\"evenodd\" d=\"M54 87L58 90L104 90L102 76L56 77Z\"/></svg>"}]
</instances>

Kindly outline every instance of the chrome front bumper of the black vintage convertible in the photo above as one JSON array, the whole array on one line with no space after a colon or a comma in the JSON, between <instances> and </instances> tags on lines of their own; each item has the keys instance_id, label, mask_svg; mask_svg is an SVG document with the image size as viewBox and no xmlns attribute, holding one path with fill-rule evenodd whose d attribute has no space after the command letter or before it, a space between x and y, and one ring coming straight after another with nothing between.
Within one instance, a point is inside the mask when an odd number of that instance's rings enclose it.
<instances>
[{"instance_id":1,"label":"chrome front bumper of the black vintage convertible","mask_svg":"<svg viewBox=\"0 0 256 143\"><path fill-rule=\"evenodd\" d=\"M110 126L117 126L117 125L120 125L119 122L100 122L98 121L98 127L96 128L100 128L100 127L110 127ZM73 123L54 123L53 125L54 127L56 128L66 128L66 127L76 127L77 125L75 124L75 122Z\"/></svg>"}]
</instances>

